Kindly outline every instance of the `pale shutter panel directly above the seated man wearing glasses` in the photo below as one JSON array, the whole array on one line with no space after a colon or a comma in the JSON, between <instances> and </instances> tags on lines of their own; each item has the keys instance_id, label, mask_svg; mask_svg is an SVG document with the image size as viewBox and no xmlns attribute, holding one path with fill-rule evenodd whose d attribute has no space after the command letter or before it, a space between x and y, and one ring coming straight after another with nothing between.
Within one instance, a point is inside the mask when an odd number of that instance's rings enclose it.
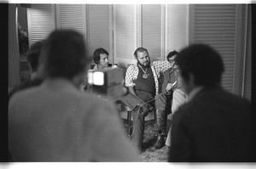
<instances>
[{"instance_id":1,"label":"pale shutter panel directly above the seated man wearing glasses","mask_svg":"<svg viewBox=\"0 0 256 169\"><path fill-rule=\"evenodd\" d=\"M180 52L188 45L187 5L172 4L166 6L166 54L176 50Z\"/></svg>"}]
</instances>

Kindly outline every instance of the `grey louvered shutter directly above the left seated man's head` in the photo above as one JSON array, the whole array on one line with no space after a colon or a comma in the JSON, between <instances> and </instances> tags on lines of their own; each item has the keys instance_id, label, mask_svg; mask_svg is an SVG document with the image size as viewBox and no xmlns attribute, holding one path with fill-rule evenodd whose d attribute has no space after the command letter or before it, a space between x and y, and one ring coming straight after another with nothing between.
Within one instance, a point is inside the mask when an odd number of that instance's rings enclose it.
<instances>
[{"instance_id":1,"label":"grey louvered shutter directly above the left seated man's head","mask_svg":"<svg viewBox=\"0 0 256 169\"><path fill-rule=\"evenodd\" d=\"M113 63L111 6L88 4L86 11L89 54L92 56L96 48L104 48L108 51L109 62Z\"/></svg>"}]
</instances>

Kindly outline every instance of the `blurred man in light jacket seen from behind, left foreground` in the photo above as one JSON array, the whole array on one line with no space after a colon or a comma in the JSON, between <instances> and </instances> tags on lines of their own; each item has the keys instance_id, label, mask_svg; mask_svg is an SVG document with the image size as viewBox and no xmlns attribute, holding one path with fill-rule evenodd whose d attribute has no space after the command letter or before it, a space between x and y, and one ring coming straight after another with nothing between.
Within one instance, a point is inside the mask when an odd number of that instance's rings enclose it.
<instances>
[{"instance_id":1,"label":"blurred man in light jacket seen from behind, left foreground","mask_svg":"<svg viewBox=\"0 0 256 169\"><path fill-rule=\"evenodd\" d=\"M79 92L86 53L77 31L55 30L46 39L39 59L44 82L9 102L13 161L138 161L113 102Z\"/></svg>"}]
</instances>

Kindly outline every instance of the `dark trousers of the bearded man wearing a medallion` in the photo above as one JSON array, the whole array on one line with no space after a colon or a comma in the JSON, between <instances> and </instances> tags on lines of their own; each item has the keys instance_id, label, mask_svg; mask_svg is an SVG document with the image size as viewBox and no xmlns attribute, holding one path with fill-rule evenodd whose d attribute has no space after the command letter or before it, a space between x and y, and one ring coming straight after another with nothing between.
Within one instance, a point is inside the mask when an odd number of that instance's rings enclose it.
<instances>
[{"instance_id":1,"label":"dark trousers of the bearded man wearing a medallion","mask_svg":"<svg viewBox=\"0 0 256 169\"><path fill-rule=\"evenodd\" d=\"M142 91L136 91L136 94L137 96L132 93L128 93L120 100L132 110L131 115L133 119L133 128L130 137L131 142L139 149L142 149L145 116L148 114L144 114L143 110L137 109L137 104L144 104L145 102L152 100L148 103L149 105L153 106L155 109L165 110L166 100L168 99L166 99L164 95L156 95L154 97L153 94Z\"/></svg>"}]
</instances>

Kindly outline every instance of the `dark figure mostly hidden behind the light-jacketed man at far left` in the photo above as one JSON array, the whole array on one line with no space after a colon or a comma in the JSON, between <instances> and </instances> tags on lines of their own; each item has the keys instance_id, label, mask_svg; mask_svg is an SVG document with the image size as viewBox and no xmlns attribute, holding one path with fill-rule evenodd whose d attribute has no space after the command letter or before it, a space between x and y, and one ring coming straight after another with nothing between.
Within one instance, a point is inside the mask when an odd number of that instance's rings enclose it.
<instances>
[{"instance_id":1,"label":"dark figure mostly hidden behind the light-jacketed man at far left","mask_svg":"<svg viewBox=\"0 0 256 169\"><path fill-rule=\"evenodd\" d=\"M43 82L43 77L38 76L38 58L43 46L43 41L38 41L32 44L27 54L27 63L31 70L31 79L21 82L9 92L9 99L18 91L28 87L35 87Z\"/></svg>"}]
</instances>

